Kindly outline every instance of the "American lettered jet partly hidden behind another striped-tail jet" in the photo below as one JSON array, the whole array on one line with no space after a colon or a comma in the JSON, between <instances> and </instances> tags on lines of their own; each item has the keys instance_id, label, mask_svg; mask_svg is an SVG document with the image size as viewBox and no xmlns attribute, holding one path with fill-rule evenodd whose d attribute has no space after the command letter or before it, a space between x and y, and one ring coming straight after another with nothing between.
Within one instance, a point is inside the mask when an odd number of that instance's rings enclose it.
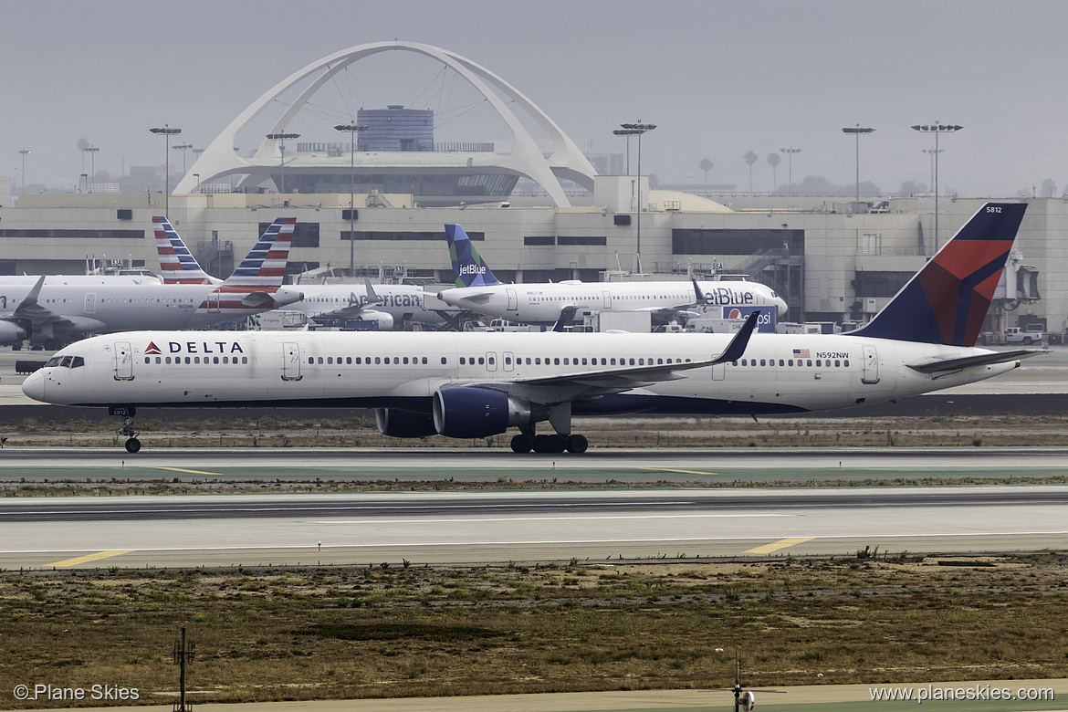
<instances>
[{"instance_id":1,"label":"American lettered jet partly hidden behind another striped-tail jet","mask_svg":"<svg viewBox=\"0 0 1068 712\"><path fill-rule=\"evenodd\" d=\"M167 284L221 282L201 268L167 218L155 217L152 222L156 228L159 266ZM382 284L372 287L367 281L362 285L301 284L299 288L304 298L286 308L303 312L312 319L371 321L379 331L391 331L408 322L434 328L447 322L439 312L426 308L423 289L412 285Z\"/></svg>"}]
</instances>

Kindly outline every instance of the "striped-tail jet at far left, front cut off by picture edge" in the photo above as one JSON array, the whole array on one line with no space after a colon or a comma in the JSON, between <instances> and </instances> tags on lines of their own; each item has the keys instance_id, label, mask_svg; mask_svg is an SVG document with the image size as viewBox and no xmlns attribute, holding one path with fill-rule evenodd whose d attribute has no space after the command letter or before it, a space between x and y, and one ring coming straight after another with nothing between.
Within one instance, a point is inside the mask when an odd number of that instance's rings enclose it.
<instances>
[{"instance_id":1,"label":"striped-tail jet at far left, front cut off by picture edge","mask_svg":"<svg viewBox=\"0 0 1068 712\"><path fill-rule=\"evenodd\" d=\"M33 338L53 349L87 333L206 327L299 301L299 291L281 288L295 224L296 218L276 220L218 285L53 284L48 276L0 284L0 344Z\"/></svg>"}]
</instances>

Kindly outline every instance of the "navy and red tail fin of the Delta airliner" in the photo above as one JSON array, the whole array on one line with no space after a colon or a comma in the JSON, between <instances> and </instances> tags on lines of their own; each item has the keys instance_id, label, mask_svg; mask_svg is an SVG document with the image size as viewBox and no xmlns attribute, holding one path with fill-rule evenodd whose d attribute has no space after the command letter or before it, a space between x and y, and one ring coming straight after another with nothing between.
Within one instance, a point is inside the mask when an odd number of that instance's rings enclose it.
<instances>
[{"instance_id":1,"label":"navy and red tail fin of the Delta airliner","mask_svg":"<svg viewBox=\"0 0 1068 712\"><path fill-rule=\"evenodd\" d=\"M1025 203L987 203L851 335L975 346Z\"/></svg>"}]
</instances>

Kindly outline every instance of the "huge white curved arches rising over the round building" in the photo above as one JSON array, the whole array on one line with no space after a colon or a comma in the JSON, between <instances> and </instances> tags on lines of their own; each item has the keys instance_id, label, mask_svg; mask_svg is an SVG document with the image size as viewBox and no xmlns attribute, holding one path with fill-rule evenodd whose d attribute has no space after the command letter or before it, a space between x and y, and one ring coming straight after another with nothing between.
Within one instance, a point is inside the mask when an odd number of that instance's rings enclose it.
<instances>
[{"instance_id":1,"label":"huge white curved arches rising over the round building","mask_svg":"<svg viewBox=\"0 0 1068 712\"><path fill-rule=\"evenodd\" d=\"M200 158L193 163L192 168L189 169L189 172L175 186L174 192L192 192L195 188L195 180L192 177L194 174L200 175L201 179L207 183L227 175L249 173L250 169L262 169L273 165L279 158L278 146L273 141L265 138L260 144L255 156L251 159L244 159L234 152L237 133L270 106L279 95L309 76L326 69L326 72L301 92L300 96L283 112L271 129L271 133L284 131L288 123L293 121L293 117L296 116L308 100L336 73L361 59L390 50L415 52L438 60L464 77L485 97L501 120L512 130L515 140L512 154L500 157L496 165L531 178L549 193L549 196L557 206L570 205L560 186L557 179L560 177L575 180L587 190L593 190L593 177L596 171L590 164L590 161L586 160L585 156L582 155L582 152L579 151L578 146L575 145L575 142L533 101L527 98L519 90L504 81L504 79L471 60L438 47L410 42L382 42L360 45L334 52L316 62L312 62L272 86L263 96L249 105L245 111L238 114L211 141ZM523 128L507 105L501 100L501 97L486 82L496 86L502 94L522 107L545 130L553 142L551 156L546 158L541 155L530 132Z\"/></svg>"}]
</instances>

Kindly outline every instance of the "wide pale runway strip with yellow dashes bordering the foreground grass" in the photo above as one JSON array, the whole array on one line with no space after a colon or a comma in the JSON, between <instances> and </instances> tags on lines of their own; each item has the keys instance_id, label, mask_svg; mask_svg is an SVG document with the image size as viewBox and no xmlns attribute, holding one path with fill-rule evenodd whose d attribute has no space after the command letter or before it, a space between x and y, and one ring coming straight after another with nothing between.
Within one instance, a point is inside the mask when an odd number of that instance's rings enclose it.
<instances>
[{"instance_id":1,"label":"wide pale runway strip with yellow dashes bordering the foreground grass","mask_svg":"<svg viewBox=\"0 0 1068 712\"><path fill-rule=\"evenodd\" d=\"M1066 511L1041 486L7 499L0 567L1037 551Z\"/></svg>"}]
</instances>

